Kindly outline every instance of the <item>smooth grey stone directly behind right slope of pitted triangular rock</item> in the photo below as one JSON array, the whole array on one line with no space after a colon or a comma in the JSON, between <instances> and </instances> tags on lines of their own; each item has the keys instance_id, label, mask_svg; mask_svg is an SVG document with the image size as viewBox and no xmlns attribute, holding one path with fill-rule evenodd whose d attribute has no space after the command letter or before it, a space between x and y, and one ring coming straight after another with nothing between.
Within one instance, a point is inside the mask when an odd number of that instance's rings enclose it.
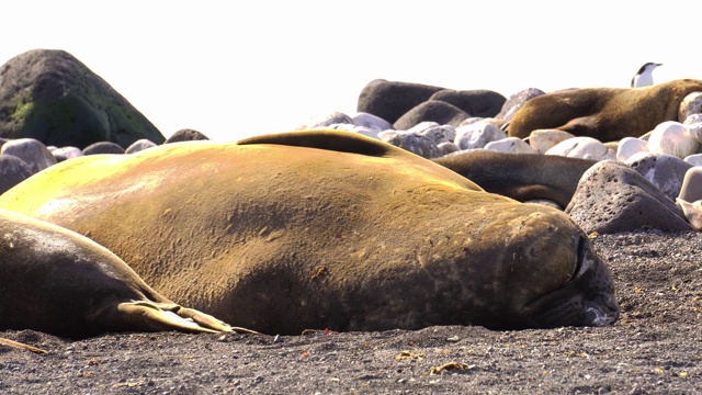
<instances>
[{"instance_id":1,"label":"smooth grey stone directly behind right slope of pitted triangular rock","mask_svg":"<svg viewBox=\"0 0 702 395\"><path fill-rule=\"evenodd\" d=\"M671 202L675 202L680 194L684 174L692 165L671 155L649 154L642 159L631 161L629 167L656 185Z\"/></svg>"}]
</instances>

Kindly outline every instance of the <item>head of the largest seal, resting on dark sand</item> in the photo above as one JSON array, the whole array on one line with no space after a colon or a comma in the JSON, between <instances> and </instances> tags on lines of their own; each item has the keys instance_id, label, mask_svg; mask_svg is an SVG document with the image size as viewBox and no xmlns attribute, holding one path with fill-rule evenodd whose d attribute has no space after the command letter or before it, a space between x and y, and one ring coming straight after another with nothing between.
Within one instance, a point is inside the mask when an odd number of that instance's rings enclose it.
<instances>
[{"instance_id":1,"label":"head of the largest seal, resting on dark sand","mask_svg":"<svg viewBox=\"0 0 702 395\"><path fill-rule=\"evenodd\" d=\"M497 329L613 324L619 308L612 276L585 233L550 207L523 204L513 210L532 212L499 226L492 223L503 233L503 249L495 251L499 273L494 276L502 292L495 298L496 316L485 325Z\"/></svg>"}]
</instances>

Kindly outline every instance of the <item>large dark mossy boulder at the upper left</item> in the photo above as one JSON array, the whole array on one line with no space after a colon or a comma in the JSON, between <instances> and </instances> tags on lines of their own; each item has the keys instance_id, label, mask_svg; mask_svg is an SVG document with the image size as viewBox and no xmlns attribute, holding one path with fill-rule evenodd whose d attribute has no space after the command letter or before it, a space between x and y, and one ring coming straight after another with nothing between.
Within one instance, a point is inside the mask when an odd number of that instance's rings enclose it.
<instances>
[{"instance_id":1,"label":"large dark mossy boulder at the upper left","mask_svg":"<svg viewBox=\"0 0 702 395\"><path fill-rule=\"evenodd\" d=\"M35 49L0 67L0 136L47 146L122 147L165 137L107 82L64 50Z\"/></svg>"}]
</instances>

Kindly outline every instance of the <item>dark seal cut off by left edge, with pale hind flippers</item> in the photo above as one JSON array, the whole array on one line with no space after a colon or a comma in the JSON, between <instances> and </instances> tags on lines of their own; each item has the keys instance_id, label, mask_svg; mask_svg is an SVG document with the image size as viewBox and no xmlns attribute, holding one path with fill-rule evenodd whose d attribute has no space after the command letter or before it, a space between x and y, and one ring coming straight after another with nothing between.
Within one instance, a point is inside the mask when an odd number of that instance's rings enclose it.
<instances>
[{"instance_id":1,"label":"dark seal cut off by left edge, with pale hind flippers","mask_svg":"<svg viewBox=\"0 0 702 395\"><path fill-rule=\"evenodd\" d=\"M7 329L73 339L115 331L230 331L161 296L90 239L0 210L0 330Z\"/></svg>"}]
</instances>

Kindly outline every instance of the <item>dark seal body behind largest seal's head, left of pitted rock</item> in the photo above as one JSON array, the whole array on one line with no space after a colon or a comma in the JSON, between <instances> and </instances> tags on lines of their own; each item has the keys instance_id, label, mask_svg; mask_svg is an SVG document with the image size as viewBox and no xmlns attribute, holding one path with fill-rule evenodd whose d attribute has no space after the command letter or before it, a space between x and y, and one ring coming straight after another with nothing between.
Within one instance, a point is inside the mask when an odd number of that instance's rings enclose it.
<instances>
[{"instance_id":1,"label":"dark seal body behind largest seal's head, left of pitted rock","mask_svg":"<svg viewBox=\"0 0 702 395\"><path fill-rule=\"evenodd\" d=\"M550 200L566 207L582 173L596 160L553 155L466 151L431 159L490 193L520 202Z\"/></svg>"}]
</instances>

